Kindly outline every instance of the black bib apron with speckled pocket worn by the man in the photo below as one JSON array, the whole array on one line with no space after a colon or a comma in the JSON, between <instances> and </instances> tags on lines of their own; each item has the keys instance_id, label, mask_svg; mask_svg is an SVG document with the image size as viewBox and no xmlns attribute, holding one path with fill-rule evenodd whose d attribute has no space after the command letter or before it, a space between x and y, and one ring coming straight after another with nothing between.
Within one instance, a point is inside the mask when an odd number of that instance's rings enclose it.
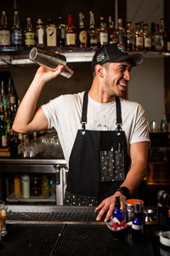
<instances>
[{"instance_id":1,"label":"black bib apron with speckled pocket worn by the man","mask_svg":"<svg viewBox=\"0 0 170 256\"><path fill-rule=\"evenodd\" d=\"M127 140L121 102L116 97L116 131L86 130L88 92L82 104L82 130L71 150L65 205L96 206L113 195L128 172Z\"/></svg>"}]
</instances>

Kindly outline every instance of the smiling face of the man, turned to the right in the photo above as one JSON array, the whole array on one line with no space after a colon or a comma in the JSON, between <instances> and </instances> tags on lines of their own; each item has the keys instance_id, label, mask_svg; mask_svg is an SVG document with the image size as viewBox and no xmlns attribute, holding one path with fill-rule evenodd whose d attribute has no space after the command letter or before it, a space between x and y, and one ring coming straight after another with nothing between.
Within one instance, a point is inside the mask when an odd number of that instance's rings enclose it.
<instances>
[{"instance_id":1,"label":"smiling face of the man, turned to the right","mask_svg":"<svg viewBox=\"0 0 170 256\"><path fill-rule=\"evenodd\" d=\"M129 61L106 63L103 90L108 96L123 96L131 79Z\"/></svg>"}]
</instances>

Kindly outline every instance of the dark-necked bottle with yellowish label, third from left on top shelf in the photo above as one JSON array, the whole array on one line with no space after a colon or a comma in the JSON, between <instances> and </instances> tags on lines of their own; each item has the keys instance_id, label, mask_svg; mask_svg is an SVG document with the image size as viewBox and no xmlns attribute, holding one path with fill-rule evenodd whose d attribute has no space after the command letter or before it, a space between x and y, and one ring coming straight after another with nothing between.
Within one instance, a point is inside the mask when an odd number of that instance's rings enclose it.
<instances>
[{"instance_id":1,"label":"dark-necked bottle with yellowish label, third from left on top shelf","mask_svg":"<svg viewBox=\"0 0 170 256\"><path fill-rule=\"evenodd\" d=\"M24 32L26 48L31 48L31 47L35 46L35 44L36 44L35 36L36 36L35 32L32 29L31 18L27 17L26 31Z\"/></svg>"}]
</instances>

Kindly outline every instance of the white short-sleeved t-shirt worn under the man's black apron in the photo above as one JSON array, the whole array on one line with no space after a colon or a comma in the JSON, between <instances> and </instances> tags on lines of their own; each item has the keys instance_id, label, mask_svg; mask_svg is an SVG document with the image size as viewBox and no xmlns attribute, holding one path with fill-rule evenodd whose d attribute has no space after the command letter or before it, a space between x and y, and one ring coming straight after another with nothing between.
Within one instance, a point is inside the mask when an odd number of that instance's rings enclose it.
<instances>
[{"instance_id":1,"label":"white short-sleeved t-shirt worn under the man's black apron","mask_svg":"<svg viewBox=\"0 0 170 256\"><path fill-rule=\"evenodd\" d=\"M62 95L42 105L48 119L48 129L54 128L59 136L59 142L68 166L71 149L77 136L77 130L82 129L82 101L84 92L74 95ZM127 152L129 144L150 142L149 129L144 108L139 103L129 102L121 98L122 131L127 137ZM108 103L94 102L88 96L87 130L116 130L116 101Z\"/></svg>"}]
</instances>

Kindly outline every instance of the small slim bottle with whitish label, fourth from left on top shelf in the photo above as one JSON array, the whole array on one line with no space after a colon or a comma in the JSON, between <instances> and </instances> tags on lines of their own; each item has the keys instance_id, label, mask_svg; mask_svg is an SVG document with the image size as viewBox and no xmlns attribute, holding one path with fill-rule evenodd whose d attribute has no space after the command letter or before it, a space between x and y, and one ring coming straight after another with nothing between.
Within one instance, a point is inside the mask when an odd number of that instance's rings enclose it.
<instances>
[{"instance_id":1,"label":"small slim bottle with whitish label, fourth from left on top shelf","mask_svg":"<svg viewBox=\"0 0 170 256\"><path fill-rule=\"evenodd\" d=\"M36 27L36 44L37 47L42 48L45 46L45 33L44 33L44 26L41 19L37 20L37 27Z\"/></svg>"}]
</instances>

